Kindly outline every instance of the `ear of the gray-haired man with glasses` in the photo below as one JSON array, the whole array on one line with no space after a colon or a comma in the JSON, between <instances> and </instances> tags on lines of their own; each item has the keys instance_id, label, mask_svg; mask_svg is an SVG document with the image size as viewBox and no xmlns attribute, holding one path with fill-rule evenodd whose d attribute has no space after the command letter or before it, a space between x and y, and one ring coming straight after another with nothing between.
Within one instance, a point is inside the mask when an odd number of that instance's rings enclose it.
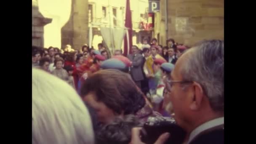
<instances>
[{"instance_id":1,"label":"ear of the gray-haired man with glasses","mask_svg":"<svg viewBox=\"0 0 256 144\"><path fill-rule=\"evenodd\" d=\"M193 97L190 104L190 109L193 111L197 111L200 109L203 101L203 88L199 83L193 82L192 84L193 89Z\"/></svg>"}]
</instances>

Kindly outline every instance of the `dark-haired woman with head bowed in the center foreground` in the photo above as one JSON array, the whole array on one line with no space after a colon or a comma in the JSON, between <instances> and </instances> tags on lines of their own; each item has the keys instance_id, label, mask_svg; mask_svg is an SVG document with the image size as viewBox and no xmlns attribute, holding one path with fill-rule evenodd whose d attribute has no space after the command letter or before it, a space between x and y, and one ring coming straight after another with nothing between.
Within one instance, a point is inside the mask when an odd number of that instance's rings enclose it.
<instances>
[{"instance_id":1,"label":"dark-haired woman with head bowed in the center foreground","mask_svg":"<svg viewBox=\"0 0 256 144\"><path fill-rule=\"evenodd\" d=\"M145 108L146 100L133 80L117 69L100 70L88 77L81 88L81 96L96 109L101 123L111 123L116 116L129 114L144 122L155 114L150 107Z\"/></svg>"}]
</instances>

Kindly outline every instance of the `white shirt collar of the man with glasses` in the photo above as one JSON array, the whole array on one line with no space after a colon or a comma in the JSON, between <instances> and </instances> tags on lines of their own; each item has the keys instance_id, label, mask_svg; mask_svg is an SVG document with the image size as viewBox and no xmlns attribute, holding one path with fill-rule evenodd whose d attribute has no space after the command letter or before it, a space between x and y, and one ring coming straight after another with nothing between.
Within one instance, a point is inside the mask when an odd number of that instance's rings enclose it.
<instances>
[{"instance_id":1,"label":"white shirt collar of the man with glasses","mask_svg":"<svg viewBox=\"0 0 256 144\"><path fill-rule=\"evenodd\" d=\"M210 128L223 125L224 124L224 117L219 117L213 120L210 120L206 123L203 123L202 125L198 126L193 130L189 135L189 141L187 144L189 144L197 135L199 135L201 132L208 130Z\"/></svg>"}]
</instances>

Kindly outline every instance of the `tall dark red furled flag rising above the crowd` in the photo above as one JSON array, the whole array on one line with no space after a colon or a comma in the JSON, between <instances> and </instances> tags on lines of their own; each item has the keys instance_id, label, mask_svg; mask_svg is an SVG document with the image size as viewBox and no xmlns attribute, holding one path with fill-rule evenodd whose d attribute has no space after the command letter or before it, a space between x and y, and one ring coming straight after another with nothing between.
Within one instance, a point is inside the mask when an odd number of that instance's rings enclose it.
<instances>
[{"instance_id":1,"label":"tall dark red furled flag rising above the crowd","mask_svg":"<svg viewBox=\"0 0 256 144\"><path fill-rule=\"evenodd\" d=\"M131 53L132 46L132 19L131 19L131 9L130 9L130 0L126 0L126 11L125 11L125 27L128 28L128 37L124 37L124 56L127 56Z\"/></svg>"}]
</instances>

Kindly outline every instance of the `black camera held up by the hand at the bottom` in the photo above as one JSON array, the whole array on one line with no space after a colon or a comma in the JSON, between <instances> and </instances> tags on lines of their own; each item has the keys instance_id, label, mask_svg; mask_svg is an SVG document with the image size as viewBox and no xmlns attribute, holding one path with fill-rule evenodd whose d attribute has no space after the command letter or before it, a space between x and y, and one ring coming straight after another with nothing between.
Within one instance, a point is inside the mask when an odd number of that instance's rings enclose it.
<instances>
[{"instance_id":1,"label":"black camera held up by the hand at the bottom","mask_svg":"<svg viewBox=\"0 0 256 144\"><path fill-rule=\"evenodd\" d=\"M149 117L141 129L141 141L146 144L154 144L158 137L165 132L170 133L165 144L182 144L186 136L186 132L175 123L175 120L168 120L165 117Z\"/></svg>"}]
</instances>

